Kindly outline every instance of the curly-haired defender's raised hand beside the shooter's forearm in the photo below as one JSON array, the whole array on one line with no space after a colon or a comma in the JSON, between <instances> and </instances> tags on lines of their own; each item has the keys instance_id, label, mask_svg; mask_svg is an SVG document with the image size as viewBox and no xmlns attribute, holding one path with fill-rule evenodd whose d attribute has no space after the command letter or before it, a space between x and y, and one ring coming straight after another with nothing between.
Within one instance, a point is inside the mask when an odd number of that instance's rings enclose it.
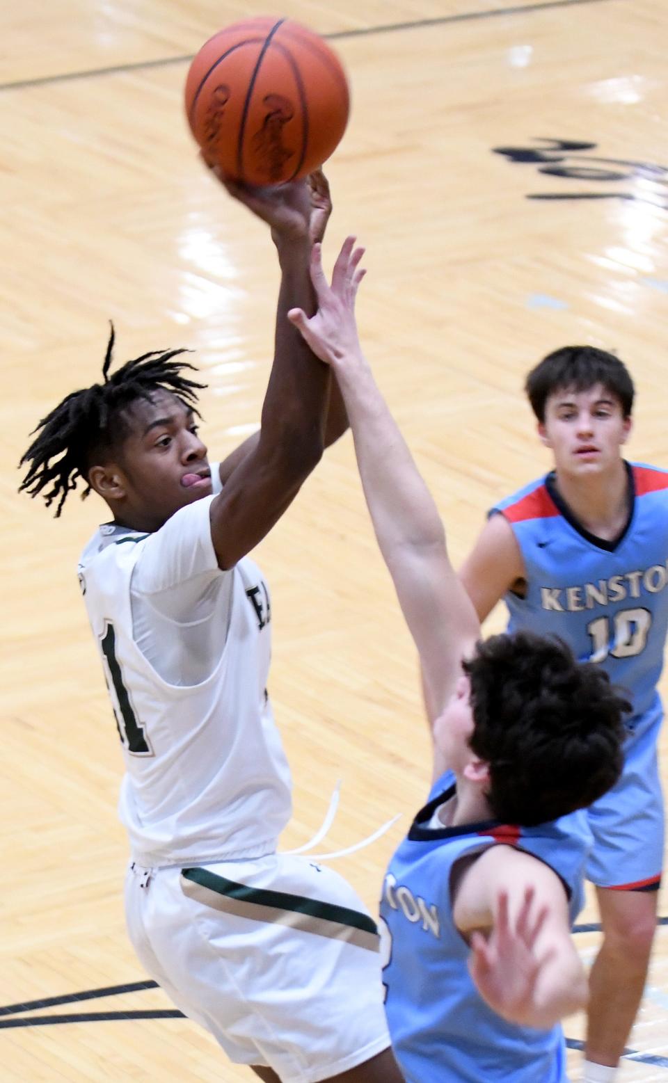
<instances>
[{"instance_id":1,"label":"curly-haired defender's raised hand beside the shooter's forearm","mask_svg":"<svg viewBox=\"0 0 668 1083\"><path fill-rule=\"evenodd\" d=\"M335 263L331 286L323 271L322 249L313 246L311 279L318 308L309 318L301 309L291 309L288 319L320 361L337 367L339 362L361 358L355 298L366 272L359 268L364 248L355 248L355 237L346 237Z\"/></svg>"}]
</instances>

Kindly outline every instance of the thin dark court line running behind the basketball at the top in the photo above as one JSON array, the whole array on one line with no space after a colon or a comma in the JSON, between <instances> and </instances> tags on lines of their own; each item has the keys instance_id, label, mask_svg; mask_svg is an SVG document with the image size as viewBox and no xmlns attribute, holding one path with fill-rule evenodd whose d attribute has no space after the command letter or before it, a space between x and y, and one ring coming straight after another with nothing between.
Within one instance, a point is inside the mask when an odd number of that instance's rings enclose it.
<instances>
[{"instance_id":1,"label":"thin dark court line running behind the basketball at the top","mask_svg":"<svg viewBox=\"0 0 668 1083\"><path fill-rule=\"evenodd\" d=\"M443 15L441 18L418 18L409 23L381 23L378 26L364 26L357 30L337 30L324 34L327 41L344 41L348 38L364 38L375 34L394 34L396 30L415 30L427 26L445 26L450 23L471 23L475 19L498 18L502 15L528 15L533 11L549 11L554 8L581 8L592 3L608 3L610 0L543 0L542 3L518 4L514 8L494 8L483 11L461 12L457 15ZM0 83L2 90L25 90L29 87L43 87L56 82L70 82L73 79L93 79L104 75L121 75L127 71L142 71L155 67L168 67L170 64L184 64L192 61L194 53L182 56L163 56L156 61L136 61L134 64L113 64L108 67L90 68L83 71L65 71L62 75L44 75L37 79L18 79L15 82Z\"/></svg>"}]
</instances>

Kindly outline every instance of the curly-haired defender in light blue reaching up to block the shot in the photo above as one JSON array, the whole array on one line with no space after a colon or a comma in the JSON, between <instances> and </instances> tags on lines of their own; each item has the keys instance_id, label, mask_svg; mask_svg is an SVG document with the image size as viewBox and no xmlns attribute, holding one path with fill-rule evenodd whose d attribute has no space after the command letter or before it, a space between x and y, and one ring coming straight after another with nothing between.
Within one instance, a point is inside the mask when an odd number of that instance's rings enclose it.
<instances>
[{"instance_id":1,"label":"curly-haired defender in light blue reaching up to block the shot","mask_svg":"<svg viewBox=\"0 0 668 1083\"><path fill-rule=\"evenodd\" d=\"M362 250L343 255L330 288L314 251L318 312L290 318L343 394L420 655L437 780L384 883L390 1032L408 1083L563 1083L559 1020L587 997L569 936L589 841L576 810L618 778L630 705L556 639L479 641L434 501L359 348Z\"/></svg>"}]
</instances>

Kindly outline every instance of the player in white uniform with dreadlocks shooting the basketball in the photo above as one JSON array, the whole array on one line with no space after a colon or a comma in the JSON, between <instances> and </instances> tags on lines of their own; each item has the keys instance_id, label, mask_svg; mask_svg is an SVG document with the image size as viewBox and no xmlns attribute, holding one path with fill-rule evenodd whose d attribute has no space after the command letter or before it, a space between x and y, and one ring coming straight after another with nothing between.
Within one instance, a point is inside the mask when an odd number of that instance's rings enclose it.
<instances>
[{"instance_id":1,"label":"player in white uniform with dreadlocks shooting the basketball","mask_svg":"<svg viewBox=\"0 0 668 1083\"><path fill-rule=\"evenodd\" d=\"M276 852L290 777L266 691L270 595L247 558L348 423L286 318L313 311L328 192L322 175L227 186L272 227L281 269L260 432L210 465L182 351L109 373L112 334L103 382L40 421L22 488L57 516L81 481L110 511L79 578L123 747L127 919L144 967L266 1083L402 1083L376 923L340 876Z\"/></svg>"}]
</instances>

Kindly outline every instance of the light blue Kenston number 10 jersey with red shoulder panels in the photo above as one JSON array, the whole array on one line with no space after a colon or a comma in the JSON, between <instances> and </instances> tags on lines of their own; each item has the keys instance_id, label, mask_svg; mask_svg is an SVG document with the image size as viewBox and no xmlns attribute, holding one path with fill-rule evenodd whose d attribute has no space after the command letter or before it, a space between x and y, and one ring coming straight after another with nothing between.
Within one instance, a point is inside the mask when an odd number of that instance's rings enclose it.
<instances>
[{"instance_id":1,"label":"light blue Kenston number 10 jersey with red shoulder panels","mask_svg":"<svg viewBox=\"0 0 668 1083\"><path fill-rule=\"evenodd\" d=\"M656 691L668 630L668 472L627 464L631 513L615 543L573 519L539 479L502 500L526 570L526 598L509 592L509 631L560 636L580 662L597 662L633 704L638 731L660 718Z\"/></svg>"}]
</instances>

